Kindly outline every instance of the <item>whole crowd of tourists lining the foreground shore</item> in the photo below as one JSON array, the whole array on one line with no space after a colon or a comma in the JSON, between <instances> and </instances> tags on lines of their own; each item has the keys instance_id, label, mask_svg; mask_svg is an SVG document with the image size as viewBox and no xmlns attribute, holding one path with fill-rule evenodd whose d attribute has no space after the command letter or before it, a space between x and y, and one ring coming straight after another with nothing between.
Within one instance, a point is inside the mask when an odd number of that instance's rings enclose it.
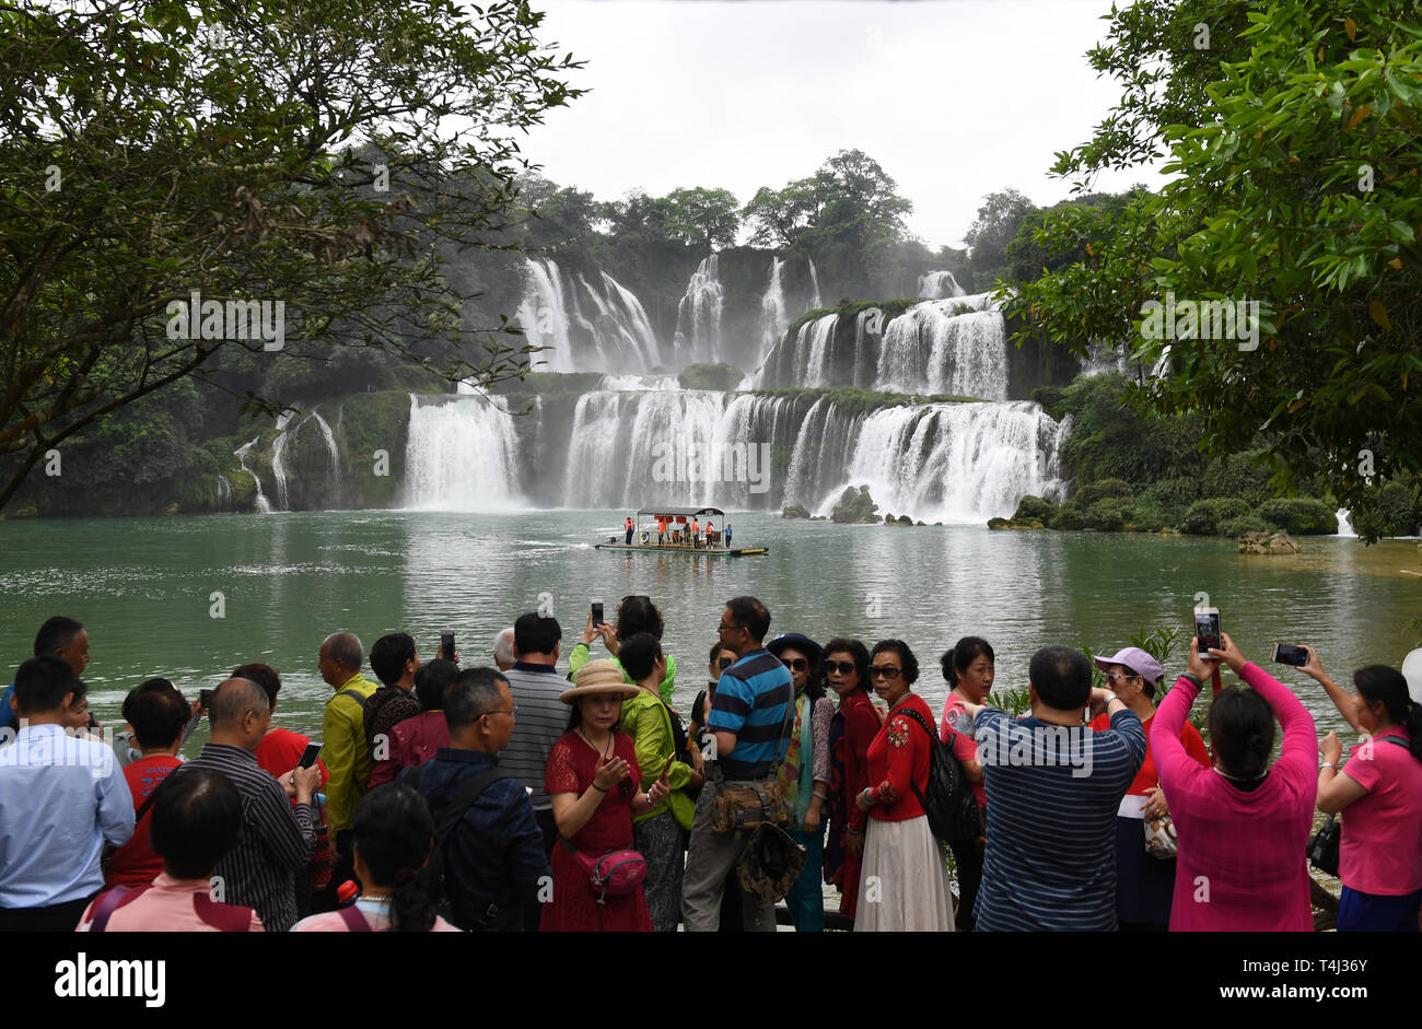
<instances>
[{"instance_id":1,"label":"whole crowd of tourists lining the foreground shore","mask_svg":"<svg viewBox=\"0 0 1422 1029\"><path fill-rule=\"evenodd\" d=\"M88 631L50 618L0 699L0 930L769 931L784 898L811 932L832 884L856 931L1310 931L1315 810L1341 813L1338 930L1419 928L1422 708L1394 668L1348 692L1305 648L1359 733L1344 762L1227 635L1192 640L1173 684L1136 647L1095 659L1105 686L1044 647L1021 716L964 637L934 716L904 641L769 627L727 601L685 711L644 596L589 617L566 672L539 613L492 667L333 632L316 748L273 726L262 662L198 699L142 682L108 742ZM1189 721L1207 684L1209 746Z\"/></svg>"}]
</instances>

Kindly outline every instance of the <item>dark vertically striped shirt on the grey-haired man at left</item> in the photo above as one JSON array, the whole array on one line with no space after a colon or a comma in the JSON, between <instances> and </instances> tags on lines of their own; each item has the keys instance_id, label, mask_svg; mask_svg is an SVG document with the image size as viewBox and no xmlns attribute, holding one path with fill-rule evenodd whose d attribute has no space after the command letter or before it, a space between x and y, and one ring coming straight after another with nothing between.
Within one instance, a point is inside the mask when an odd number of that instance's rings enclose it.
<instances>
[{"instance_id":1,"label":"dark vertically striped shirt on the grey-haired man at left","mask_svg":"<svg viewBox=\"0 0 1422 1029\"><path fill-rule=\"evenodd\" d=\"M256 755L240 746L208 743L172 775L192 767L222 772L242 794L242 836L218 861L222 895L213 900L256 908L267 932L286 932L296 924L296 876L306 874L316 847L311 806L293 807Z\"/></svg>"}]
</instances>

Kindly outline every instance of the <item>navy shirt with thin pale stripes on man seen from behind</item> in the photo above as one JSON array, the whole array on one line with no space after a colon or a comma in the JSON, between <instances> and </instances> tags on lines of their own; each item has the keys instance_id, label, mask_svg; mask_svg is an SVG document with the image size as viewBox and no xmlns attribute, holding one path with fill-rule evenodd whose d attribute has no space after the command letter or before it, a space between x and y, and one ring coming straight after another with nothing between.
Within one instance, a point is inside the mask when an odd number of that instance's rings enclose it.
<instances>
[{"instance_id":1,"label":"navy shirt with thin pale stripes on man seen from behind","mask_svg":"<svg viewBox=\"0 0 1422 1029\"><path fill-rule=\"evenodd\" d=\"M1111 729L977 716L987 854L974 917L987 932L1116 928L1116 810L1146 756L1140 719Z\"/></svg>"}]
</instances>

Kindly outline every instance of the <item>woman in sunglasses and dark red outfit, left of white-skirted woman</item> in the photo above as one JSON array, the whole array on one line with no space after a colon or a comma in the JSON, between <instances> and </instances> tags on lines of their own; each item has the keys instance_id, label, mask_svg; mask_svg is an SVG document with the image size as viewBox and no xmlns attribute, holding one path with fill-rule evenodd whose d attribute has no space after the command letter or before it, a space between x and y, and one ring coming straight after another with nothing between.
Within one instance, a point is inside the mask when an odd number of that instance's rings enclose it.
<instances>
[{"instance_id":1,"label":"woman in sunglasses and dark red outfit, left of white-skirted woman","mask_svg":"<svg viewBox=\"0 0 1422 1029\"><path fill-rule=\"evenodd\" d=\"M825 881L833 883L840 893L840 914L853 918L869 821L869 816L855 806L855 797L869 785L869 743L879 732L879 711L869 699L869 650L857 640L830 640L825 644L820 674L839 696L839 709L829 723Z\"/></svg>"}]
</instances>

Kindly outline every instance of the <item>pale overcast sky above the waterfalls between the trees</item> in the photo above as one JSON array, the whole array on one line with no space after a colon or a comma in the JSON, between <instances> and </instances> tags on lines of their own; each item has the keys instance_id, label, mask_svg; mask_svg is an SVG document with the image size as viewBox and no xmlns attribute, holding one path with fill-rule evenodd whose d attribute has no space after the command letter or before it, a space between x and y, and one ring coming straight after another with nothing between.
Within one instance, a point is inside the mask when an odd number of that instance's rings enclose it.
<instances>
[{"instance_id":1,"label":"pale overcast sky above the waterfalls between the trees","mask_svg":"<svg viewBox=\"0 0 1422 1029\"><path fill-rule=\"evenodd\" d=\"M563 186L729 189L812 175L862 149L914 205L909 230L963 244L983 198L1071 195L1049 175L1119 98L1086 64L1111 0L533 0L539 37L586 61L522 144ZM1159 185L1158 168L1095 189Z\"/></svg>"}]
</instances>

